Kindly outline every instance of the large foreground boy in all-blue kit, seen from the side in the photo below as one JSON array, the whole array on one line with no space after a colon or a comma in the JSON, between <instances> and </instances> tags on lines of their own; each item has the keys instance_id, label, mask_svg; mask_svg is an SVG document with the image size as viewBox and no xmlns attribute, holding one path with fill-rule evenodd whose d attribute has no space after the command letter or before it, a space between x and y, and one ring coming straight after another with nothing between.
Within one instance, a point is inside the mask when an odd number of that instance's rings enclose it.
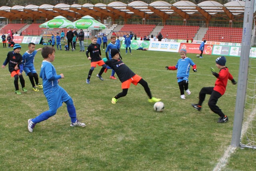
<instances>
[{"instance_id":1,"label":"large foreground boy in all-blue kit, seen from the side","mask_svg":"<svg viewBox=\"0 0 256 171\"><path fill-rule=\"evenodd\" d=\"M49 117L56 114L57 109L62 106L62 103L66 103L68 114L71 118L70 126L85 127L84 123L81 123L76 118L76 108L72 98L68 93L58 85L61 78L64 78L63 74L57 75L56 70L51 62L55 59L55 49L50 46L45 46L42 49L42 56L44 58L41 66L40 77L43 79L44 95L48 101L49 110L44 111L34 119L28 119L28 131L33 132L36 123L42 122Z\"/></svg>"}]
</instances>

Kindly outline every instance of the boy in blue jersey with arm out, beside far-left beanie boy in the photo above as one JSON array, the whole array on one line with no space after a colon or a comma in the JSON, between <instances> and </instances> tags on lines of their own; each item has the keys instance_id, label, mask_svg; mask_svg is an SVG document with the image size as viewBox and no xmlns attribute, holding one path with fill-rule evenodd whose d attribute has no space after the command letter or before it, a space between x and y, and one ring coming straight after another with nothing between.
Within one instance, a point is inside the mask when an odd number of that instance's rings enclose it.
<instances>
[{"instance_id":1,"label":"boy in blue jersey with arm out, beside far-left beanie boy","mask_svg":"<svg viewBox=\"0 0 256 171\"><path fill-rule=\"evenodd\" d=\"M22 56L22 64L23 64L23 70L28 76L32 84L32 89L34 91L39 91L37 87L43 88L43 86L39 84L38 74L36 73L36 69L34 66L34 60L35 60L36 53L39 50L42 50L42 48L39 48L38 50L35 50L35 49L36 49L36 44L32 42L28 44L28 50ZM34 79L36 84L34 82Z\"/></svg>"}]
</instances>

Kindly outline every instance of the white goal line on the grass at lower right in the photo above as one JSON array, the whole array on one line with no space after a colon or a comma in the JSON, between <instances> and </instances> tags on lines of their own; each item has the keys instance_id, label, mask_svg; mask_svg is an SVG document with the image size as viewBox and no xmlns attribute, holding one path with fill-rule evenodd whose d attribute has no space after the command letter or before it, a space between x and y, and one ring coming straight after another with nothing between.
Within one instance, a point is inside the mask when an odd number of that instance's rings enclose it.
<instances>
[{"instance_id":1,"label":"white goal line on the grass at lower right","mask_svg":"<svg viewBox=\"0 0 256 171\"><path fill-rule=\"evenodd\" d=\"M242 131L241 131L241 139L246 133L246 130L248 129L249 123L252 121L256 113L256 109L248 116L248 119L242 124ZM226 149L223 156L219 159L219 162L214 167L213 171L221 171L222 169L225 169L226 164L228 163L228 158L236 151L236 147L232 147L232 145L229 145Z\"/></svg>"}]
</instances>

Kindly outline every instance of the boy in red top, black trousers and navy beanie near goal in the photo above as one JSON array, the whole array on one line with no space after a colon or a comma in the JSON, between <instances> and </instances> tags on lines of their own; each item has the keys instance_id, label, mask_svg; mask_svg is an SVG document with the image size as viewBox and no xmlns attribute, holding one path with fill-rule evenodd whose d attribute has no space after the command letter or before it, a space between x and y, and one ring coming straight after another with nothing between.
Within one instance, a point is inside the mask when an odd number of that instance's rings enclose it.
<instances>
[{"instance_id":1,"label":"boy in red top, black trousers and navy beanie near goal","mask_svg":"<svg viewBox=\"0 0 256 171\"><path fill-rule=\"evenodd\" d=\"M216 105L218 99L224 95L226 91L226 86L228 84L228 80L231 80L232 84L235 85L236 81L233 76L229 73L226 65L226 58L224 56L220 56L216 59L216 67L220 69L219 74L215 72L213 68L211 68L212 75L214 75L217 80L215 82L214 87L203 87L199 93L199 101L197 104L193 104L192 106L200 111L202 109L202 103L204 102L206 94L210 94L210 99L208 101L208 106L210 109L218 114L220 117L218 119L218 123L224 123L228 121L228 116L225 115L221 109Z\"/></svg>"}]
</instances>

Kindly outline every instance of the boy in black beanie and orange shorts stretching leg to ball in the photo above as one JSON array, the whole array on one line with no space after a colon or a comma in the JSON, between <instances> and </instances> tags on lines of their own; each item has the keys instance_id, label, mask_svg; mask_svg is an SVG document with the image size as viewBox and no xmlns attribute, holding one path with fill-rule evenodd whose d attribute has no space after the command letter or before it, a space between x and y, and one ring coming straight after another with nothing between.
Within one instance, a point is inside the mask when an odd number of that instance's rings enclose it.
<instances>
[{"instance_id":1,"label":"boy in black beanie and orange shorts stretching leg to ball","mask_svg":"<svg viewBox=\"0 0 256 171\"><path fill-rule=\"evenodd\" d=\"M130 70L130 68L126 66L124 62L122 62L122 60L120 60L119 51L116 48L112 49L110 53L112 56L112 60L106 61L106 64L113 68L113 70L116 72L116 75L122 83L123 90L121 93L118 93L115 97L112 98L111 103L116 104L120 97L126 96L131 83L134 85L137 85L139 83L144 87L149 97L149 102L157 102L161 100L152 97L150 89L148 87L148 83L137 74L134 74L134 72L132 72L132 70Z\"/></svg>"}]
</instances>

